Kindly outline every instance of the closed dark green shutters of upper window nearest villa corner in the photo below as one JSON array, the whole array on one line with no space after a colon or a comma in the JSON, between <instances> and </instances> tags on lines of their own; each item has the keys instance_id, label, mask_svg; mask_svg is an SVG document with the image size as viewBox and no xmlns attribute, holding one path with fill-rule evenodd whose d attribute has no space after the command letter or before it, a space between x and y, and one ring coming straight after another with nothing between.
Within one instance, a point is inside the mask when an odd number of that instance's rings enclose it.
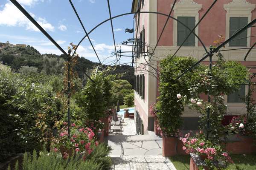
<instances>
[{"instance_id":1,"label":"closed dark green shutters of upper window nearest villa corner","mask_svg":"<svg viewBox=\"0 0 256 170\"><path fill-rule=\"evenodd\" d=\"M177 17L177 19L184 23L191 30L195 27L195 17ZM189 35L188 28L181 23L177 23L177 45L181 45L185 38ZM191 34L184 42L185 46L195 46L195 35Z\"/></svg>"}]
</instances>

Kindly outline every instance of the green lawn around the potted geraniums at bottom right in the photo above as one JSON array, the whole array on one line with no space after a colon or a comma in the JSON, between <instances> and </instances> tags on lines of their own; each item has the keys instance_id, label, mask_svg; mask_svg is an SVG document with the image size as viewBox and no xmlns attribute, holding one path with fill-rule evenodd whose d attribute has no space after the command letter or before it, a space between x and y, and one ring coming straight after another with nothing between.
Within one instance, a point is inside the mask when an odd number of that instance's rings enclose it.
<instances>
[{"instance_id":1,"label":"green lawn around the potted geraniums at bottom right","mask_svg":"<svg viewBox=\"0 0 256 170\"><path fill-rule=\"evenodd\" d=\"M231 155L234 164L227 170L256 170L256 154ZM190 156L173 156L170 160L177 170L189 170Z\"/></svg>"}]
</instances>

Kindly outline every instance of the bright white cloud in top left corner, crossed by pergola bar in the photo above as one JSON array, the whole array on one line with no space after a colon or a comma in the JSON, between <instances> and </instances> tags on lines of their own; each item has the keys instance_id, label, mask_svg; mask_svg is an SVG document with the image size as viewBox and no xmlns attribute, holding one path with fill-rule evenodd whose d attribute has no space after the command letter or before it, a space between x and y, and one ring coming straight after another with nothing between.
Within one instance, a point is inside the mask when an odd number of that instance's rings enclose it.
<instances>
[{"instance_id":1,"label":"bright white cloud in top left corner, crossed by pergola bar","mask_svg":"<svg viewBox=\"0 0 256 170\"><path fill-rule=\"evenodd\" d=\"M30 5L35 2L35 0L22 1L24 5ZM31 16L34 17L39 25L45 30L54 31L54 26L48 23L45 19L41 17L37 19L34 14L31 14ZM12 3L6 3L3 10L0 11L0 25L26 27L26 30L39 31L39 29L36 28L36 26L32 24L29 19L27 19L25 15L21 13Z\"/></svg>"}]
</instances>

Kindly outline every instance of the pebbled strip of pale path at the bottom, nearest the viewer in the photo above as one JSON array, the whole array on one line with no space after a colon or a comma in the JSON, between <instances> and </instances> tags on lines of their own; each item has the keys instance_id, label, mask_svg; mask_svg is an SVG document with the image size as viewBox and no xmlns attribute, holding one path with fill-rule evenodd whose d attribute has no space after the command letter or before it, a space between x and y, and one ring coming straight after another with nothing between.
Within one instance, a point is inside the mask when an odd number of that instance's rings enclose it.
<instances>
[{"instance_id":1,"label":"pebbled strip of pale path at the bottom, nearest the viewer","mask_svg":"<svg viewBox=\"0 0 256 170\"><path fill-rule=\"evenodd\" d=\"M172 162L163 156L112 157L112 170L176 170Z\"/></svg>"}]
</instances>

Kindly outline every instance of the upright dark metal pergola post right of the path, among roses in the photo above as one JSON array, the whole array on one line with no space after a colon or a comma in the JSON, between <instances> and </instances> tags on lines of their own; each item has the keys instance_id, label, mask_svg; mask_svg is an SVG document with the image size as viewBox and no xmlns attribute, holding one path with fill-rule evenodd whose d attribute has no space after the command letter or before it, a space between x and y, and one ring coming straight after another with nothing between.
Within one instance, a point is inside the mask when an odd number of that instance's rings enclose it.
<instances>
[{"instance_id":1,"label":"upright dark metal pergola post right of the path, among roses","mask_svg":"<svg viewBox=\"0 0 256 170\"><path fill-rule=\"evenodd\" d=\"M212 74L212 45L210 45L210 55L209 55L209 73L208 76L210 77ZM211 95L210 95L210 89L211 85L208 85L208 103L211 102ZM210 108L207 108L207 133L206 133L206 139L208 140L209 138L209 127L210 127Z\"/></svg>"}]
</instances>

